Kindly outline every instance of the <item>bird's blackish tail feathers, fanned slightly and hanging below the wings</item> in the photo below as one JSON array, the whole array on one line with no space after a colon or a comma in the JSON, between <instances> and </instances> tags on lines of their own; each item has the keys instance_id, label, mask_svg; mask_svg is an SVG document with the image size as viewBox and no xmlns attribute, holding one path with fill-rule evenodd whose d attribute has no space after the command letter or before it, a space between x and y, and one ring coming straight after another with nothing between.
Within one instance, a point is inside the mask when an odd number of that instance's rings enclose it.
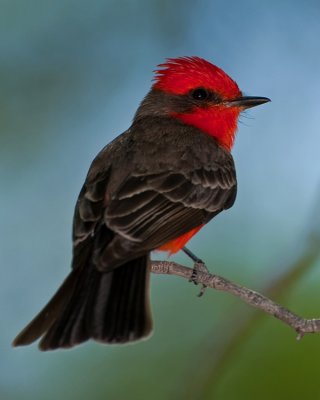
<instances>
[{"instance_id":1,"label":"bird's blackish tail feathers, fanned slightly and hanging below the wings","mask_svg":"<svg viewBox=\"0 0 320 400\"><path fill-rule=\"evenodd\" d=\"M92 266L75 268L13 345L28 345L42 337L39 348L54 350L88 339L127 343L148 336L149 278L148 255L107 273Z\"/></svg>"}]
</instances>

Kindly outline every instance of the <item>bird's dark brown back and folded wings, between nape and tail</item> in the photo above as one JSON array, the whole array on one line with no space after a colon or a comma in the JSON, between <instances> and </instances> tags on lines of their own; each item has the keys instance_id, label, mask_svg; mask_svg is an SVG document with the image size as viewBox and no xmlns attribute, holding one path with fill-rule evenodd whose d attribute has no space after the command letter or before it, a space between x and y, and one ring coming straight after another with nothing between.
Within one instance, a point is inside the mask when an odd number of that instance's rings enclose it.
<instances>
[{"instance_id":1,"label":"bird's dark brown back and folded wings, between nape and tail","mask_svg":"<svg viewBox=\"0 0 320 400\"><path fill-rule=\"evenodd\" d=\"M121 265L208 222L236 196L232 157L212 138L181 124L172 133L171 122L169 134L162 126L160 137L139 128L113 144L113 152L104 150L109 157L104 168L106 154L98 156L79 196L75 255L93 243L99 269Z\"/></svg>"}]
</instances>

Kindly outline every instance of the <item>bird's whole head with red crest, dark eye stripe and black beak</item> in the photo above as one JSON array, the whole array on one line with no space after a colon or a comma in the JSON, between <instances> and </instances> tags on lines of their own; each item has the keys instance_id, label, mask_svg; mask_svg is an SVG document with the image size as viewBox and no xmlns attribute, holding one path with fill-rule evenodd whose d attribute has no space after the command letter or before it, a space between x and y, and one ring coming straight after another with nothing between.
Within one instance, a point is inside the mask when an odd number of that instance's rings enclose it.
<instances>
[{"instance_id":1,"label":"bird's whole head with red crest, dark eye stripe and black beak","mask_svg":"<svg viewBox=\"0 0 320 400\"><path fill-rule=\"evenodd\" d=\"M170 115L214 137L230 150L240 112L270 101L243 97L222 69L199 57L169 58L155 71L151 95L137 115ZM160 100L161 99L161 100Z\"/></svg>"}]
</instances>

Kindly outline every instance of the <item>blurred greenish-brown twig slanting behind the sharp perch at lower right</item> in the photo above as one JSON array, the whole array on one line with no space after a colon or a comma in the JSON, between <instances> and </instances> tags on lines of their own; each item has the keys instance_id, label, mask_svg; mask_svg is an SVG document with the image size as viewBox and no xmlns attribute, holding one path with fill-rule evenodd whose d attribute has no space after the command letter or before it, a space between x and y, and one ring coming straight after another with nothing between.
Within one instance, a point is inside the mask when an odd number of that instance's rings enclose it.
<instances>
[{"instance_id":1,"label":"blurred greenish-brown twig slanting behind the sharp perch at lower right","mask_svg":"<svg viewBox=\"0 0 320 400\"><path fill-rule=\"evenodd\" d=\"M298 250L299 253L292 257L289 264L275 265L268 268L271 279L266 282L263 279L263 291L270 298L284 298L288 295L293 286L312 268L320 256L320 241L308 240L305 248ZM300 243L301 244L301 241ZM295 249L295 250L293 250ZM294 246L290 252L291 256L297 251L298 246ZM206 399L214 396L221 377L228 370L239 347L248 339L252 332L257 328L259 322L266 315L258 309L251 308L247 313L237 310L229 310L230 318L224 319L221 323L220 334L212 340L213 333L208 334L202 344L197 349L195 364L202 365L201 372L195 376L194 368L188 368L187 378L184 381L188 385L177 387L177 393L174 397L178 399ZM208 354L214 354L214 357L208 358ZM188 377L192 376L193 379Z\"/></svg>"}]
</instances>

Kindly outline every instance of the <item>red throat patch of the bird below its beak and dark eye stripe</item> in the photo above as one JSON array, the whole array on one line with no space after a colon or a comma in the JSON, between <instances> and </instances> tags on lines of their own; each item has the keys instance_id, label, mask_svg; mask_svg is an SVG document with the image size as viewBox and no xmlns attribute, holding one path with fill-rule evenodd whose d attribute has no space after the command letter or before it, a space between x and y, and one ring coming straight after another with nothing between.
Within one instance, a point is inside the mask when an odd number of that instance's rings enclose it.
<instances>
[{"instance_id":1,"label":"red throat patch of the bird below its beak and dark eye stripe","mask_svg":"<svg viewBox=\"0 0 320 400\"><path fill-rule=\"evenodd\" d=\"M240 110L235 107L213 106L196 108L188 114L171 115L216 138L220 145L230 151L237 131L239 114Z\"/></svg>"}]
</instances>

